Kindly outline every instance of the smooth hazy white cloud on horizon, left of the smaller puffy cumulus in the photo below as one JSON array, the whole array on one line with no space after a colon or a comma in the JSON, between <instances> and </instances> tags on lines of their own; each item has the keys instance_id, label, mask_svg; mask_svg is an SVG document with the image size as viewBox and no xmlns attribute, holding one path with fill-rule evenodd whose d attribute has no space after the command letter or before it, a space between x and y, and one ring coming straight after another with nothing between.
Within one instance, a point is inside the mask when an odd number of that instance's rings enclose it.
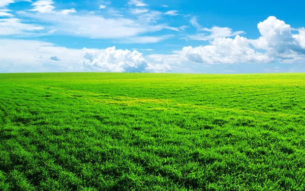
<instances>
[{"instance_id":1,"label":"smooth hazy white cloud on horizon, left of the smaller puffy cumulus","mask_svg":"<svg viewBox=\"0 0 305 191\"><path fill-rule=\"evenodd\" d=\"M60 63L50 60L54 55ZM82 50L41 41L0 40L0 72L82 71L81 59Z\"/></svg>"}]
</instances>

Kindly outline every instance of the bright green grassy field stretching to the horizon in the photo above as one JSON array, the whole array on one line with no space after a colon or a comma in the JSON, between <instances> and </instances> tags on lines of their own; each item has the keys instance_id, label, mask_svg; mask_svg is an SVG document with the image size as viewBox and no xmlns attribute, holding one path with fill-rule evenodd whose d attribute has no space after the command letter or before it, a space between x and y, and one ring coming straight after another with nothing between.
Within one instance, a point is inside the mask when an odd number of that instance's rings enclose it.
<instances>
[{"instance_id":1,"label":"bright green grassy field stretching to the horizon","mask_svg":"<svg viewBox=\"0 0 305 191\"><path fill-rule=\"evenodd\" d=\"M305 74L0 74L0 190L305 190Z\"/></svg>"}]
</instances>

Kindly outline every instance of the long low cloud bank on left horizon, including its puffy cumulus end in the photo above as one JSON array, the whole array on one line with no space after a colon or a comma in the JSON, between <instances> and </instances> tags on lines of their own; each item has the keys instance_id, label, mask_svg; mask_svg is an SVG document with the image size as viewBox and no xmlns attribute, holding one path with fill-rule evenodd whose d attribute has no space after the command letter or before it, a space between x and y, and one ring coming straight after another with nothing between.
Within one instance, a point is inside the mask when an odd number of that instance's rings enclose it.
<instances>
[{"instance_id":1,"label":"long low cloud bank on left horizon, including its puffy cumulus end","mask_svg":"<svg viewBox=\"0 0 305 191\"><path fill-rule=\"evenodd\" d=\"M111 71L165 72L170 66L149 64L138 51L68 49L30 40L0 40L0 72Z\"/></svg>"}]
</instances>

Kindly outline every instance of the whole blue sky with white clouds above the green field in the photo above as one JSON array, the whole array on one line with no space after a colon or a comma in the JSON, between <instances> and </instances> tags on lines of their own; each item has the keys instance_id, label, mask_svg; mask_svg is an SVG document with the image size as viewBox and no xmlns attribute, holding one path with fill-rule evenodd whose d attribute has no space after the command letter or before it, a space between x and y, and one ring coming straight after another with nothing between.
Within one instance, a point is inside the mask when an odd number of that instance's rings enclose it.
<instances>
[{"instance_id":1,"label":"whole blue sky with white clouds above the green field","mask_svg":"<svg viewBox=\"0 0 305 191\"><path fill-rule=\"evenodd\" d=\"M304 6L0 0L0 72L305 72Z\"/></svg>"}]
</instances>

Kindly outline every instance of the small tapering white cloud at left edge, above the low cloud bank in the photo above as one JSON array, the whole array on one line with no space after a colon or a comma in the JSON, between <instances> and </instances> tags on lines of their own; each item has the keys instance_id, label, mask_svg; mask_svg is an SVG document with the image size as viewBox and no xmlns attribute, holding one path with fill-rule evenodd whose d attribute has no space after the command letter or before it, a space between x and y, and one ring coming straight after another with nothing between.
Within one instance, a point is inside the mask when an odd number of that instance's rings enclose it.
<instances>
[{"instance_id":1,"label":"small tapering white cloud at left edge, above the low cloud bank","mask_svg":"<svg viewBox=\"0 0 305 191\"><path fill-rule=\"evenodd\" d=\"M17 18L0 19L0 36L1 35L26 35L29 32L39 31L44 27L33 24L22 23L22 20Z\"/></svg>"}]
</instances>

